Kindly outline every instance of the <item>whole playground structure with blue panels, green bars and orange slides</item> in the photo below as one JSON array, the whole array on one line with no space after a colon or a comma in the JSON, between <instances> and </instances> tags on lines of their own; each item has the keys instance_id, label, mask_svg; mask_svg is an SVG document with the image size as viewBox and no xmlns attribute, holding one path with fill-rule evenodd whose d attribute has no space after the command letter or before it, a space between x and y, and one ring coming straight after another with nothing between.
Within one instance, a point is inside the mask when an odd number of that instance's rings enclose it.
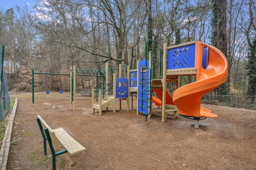
<instances>
[{"instance_id":1,"label":"whole playground structure with blue panels, green bars and orange slides","mask_svg":"<svg viewBox=\"0 0 256 170\"><path fill-rule=\"evenodd\" d=\"M147 57L147 42L152 41L156 45ZM155 57L155 50L159 48L159 57ZM159 64L156 69L156 63ZM185 118L195 120L195 129L199 128L199 120L207 117L218 117L210 110L202 108L201 98L209 91L215 89L227 80L227 59L217 48L201 43L199 41L189 42L176 46L167 47L164 44L162 49L156 41L146 41L146 57L142 61L137 61L137 69L130 70L127 66L127 79L125 67L120 64L119 69L108 68L106 63L105 70L76 70L75 66L70 68L70 109L75 110L76 103L76 76L97 76L100 72L102 85L92 90L93 112L102 110L113 104L113 112L116 111L116 99L127 101L127 111L133 109L133 95L137 95L137 114L145 114L145 120L151 117L152 103L162 107L162 122L165 122L167 114L178 114ZM123 68L122 68L123 67ZM116 78L114 71L119 70L119 78ZM95 74L96 73L96 74ZM58 74L58 73L35 73L34 74ZM196 82L179 87L179 76L196 75ZM109 78L112 77L112 78ZM33 77L32 77L33 80ZM113 84L112 84L113 82ZM166 83L176 83L176 90L173 96L166 89ZM32 83L33 86L33 83ZM154 91L159 99L153 96ZM110 96L111 95L111 96ZM165 100L163 100L165 99ZM34 103L34 87L33 87Z\"/></svg>"}]
</instances>

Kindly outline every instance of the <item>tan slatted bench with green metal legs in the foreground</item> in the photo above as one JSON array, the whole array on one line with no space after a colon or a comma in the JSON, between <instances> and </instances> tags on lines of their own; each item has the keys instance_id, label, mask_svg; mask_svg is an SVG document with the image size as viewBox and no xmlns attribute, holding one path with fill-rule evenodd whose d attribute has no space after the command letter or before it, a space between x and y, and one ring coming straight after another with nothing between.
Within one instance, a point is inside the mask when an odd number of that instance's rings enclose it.
<instances>
[{"instance_id":1,"label":"tan slatted bench with green metal legs in the foreground","mask_svg":"<svg viewBox=\"0 0 256 170\"><path fill-rule=\"evenodd\" d=\"M56 156L66 152L70 153L70 155L74 155L76 153L86 150L75 139L73 139L62 127L52 130L39 115L37 116L38 118L36 120L44 139L44 155L46 155L46 141L48 141L52 153L53 170L56 170ZM56 153L53 145L55 145L56 147L59 146L58 141L65 148L65 150Z\"/></svg>"}]
</instances>

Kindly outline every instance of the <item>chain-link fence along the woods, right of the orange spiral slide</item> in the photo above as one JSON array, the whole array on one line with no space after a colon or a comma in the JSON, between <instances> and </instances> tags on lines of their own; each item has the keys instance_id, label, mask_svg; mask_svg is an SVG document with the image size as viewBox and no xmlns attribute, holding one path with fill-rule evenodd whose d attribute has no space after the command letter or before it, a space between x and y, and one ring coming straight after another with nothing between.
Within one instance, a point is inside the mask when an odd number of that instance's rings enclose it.
<instances>
[{"instance_id":1,"label":"chain-link fence along the woods, right of the orange spiral slide","mask_svg":"<svg viewBox=\"0 0 256 170\"><path fill-rule=\"evenodd\" d=\"M206 94L201 98L201 103L255 110L255 97L256 96L221 96Z\"/></svg>"}]
</instances>

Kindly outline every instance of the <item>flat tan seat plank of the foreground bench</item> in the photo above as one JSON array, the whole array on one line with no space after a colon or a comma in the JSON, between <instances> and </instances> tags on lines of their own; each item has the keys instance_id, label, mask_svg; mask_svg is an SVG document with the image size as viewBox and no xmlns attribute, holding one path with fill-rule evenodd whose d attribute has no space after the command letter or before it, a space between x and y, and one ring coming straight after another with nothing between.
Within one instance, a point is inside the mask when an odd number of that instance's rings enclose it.
<instances>
[{"instance_id":1,"label":"flat tan seat plank of the foreground bench","mask_svg":"<svg viewBox=\"0 0 256 170\"><path fill-rule=\"evenodd\" d=\"M73 139L62 127L54 129L54 132L58 141L68 151L68 153L70 153L70 155L74 155L76 153L86 150L82 145L80 145L80 143Z\"/></svg>"}]
</instances>

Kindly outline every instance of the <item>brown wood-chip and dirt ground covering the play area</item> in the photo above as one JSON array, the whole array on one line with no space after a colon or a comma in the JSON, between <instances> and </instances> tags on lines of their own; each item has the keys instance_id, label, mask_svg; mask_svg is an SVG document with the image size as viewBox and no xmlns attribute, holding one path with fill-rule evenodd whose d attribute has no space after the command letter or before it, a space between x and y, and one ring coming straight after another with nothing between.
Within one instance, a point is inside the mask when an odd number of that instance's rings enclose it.
<instances>
[{"instance_id":1,"label":"brown wood-chip and dirt ground covering the play area","mask_svg":"<svg viewBox=\"0 0 256 170\"><path fill-rule=\"evenodd\" d=\"M116 113L92 113L92 98L77 97L70 110L68 94L37 93L18 97L8 169L51 169L51 153L43 154L43 139L36 122L39 114L52 128L63 127L87 150L57 156L57 169L256 169L256 112L202 105L218 118L194 121L168 115L162 123L161 108L152 118L136 114L135 107ZM119 100L116 109L119 109ZM56 148L58 151L63 148Z\"/></svg>"}]
</instances>

